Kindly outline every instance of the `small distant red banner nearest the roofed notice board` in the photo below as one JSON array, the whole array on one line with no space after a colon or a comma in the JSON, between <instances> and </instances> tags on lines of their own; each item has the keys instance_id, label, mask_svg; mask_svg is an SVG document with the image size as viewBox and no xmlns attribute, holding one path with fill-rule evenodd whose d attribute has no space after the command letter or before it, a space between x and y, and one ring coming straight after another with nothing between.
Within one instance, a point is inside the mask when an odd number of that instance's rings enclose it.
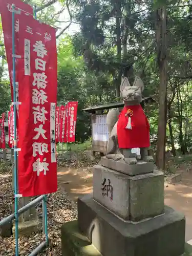
<instances>
[{"instance_id":1,"label":"small distant red banner nearest the roofed notice board","mask_svg":"<svg viewBox=\"0 0 192 256\"><path fill-rule=\"evenodd\" d=\"M75 142L77 106L77 101L72 101L68 103L68 142Z\"/></svg>"}]
</instances>

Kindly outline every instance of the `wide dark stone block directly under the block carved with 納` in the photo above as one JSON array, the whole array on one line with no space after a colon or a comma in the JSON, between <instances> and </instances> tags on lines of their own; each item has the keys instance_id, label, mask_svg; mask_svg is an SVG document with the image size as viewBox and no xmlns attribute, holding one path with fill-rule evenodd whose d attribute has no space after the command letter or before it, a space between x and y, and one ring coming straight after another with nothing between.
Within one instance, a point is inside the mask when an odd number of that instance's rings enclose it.
<instances>
[{"instance_id":1,"label":"wide dark stone block directly under the block carved with \u7d0d","mask_svg":"<svg viewBox=\"0 0 192 256\"><path fill-rule=\"evenodd\" d=\"M88 195L78 199L78 226L104 256L180 256L184 252L185 217L170 207L165 207L163 216L132 224Z\"/></svg>"}]
</instances>

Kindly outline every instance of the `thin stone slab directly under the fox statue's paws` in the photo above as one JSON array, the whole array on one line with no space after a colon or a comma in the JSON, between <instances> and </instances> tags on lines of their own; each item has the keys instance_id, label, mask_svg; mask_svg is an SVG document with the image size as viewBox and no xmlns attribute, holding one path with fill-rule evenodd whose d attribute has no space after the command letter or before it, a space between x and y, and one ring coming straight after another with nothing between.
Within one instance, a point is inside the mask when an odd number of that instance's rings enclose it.
<instances>
[{"instance_id":1,"label":"thin stone slab directly under the fox statue's paws","mask_svg":"<svg viewBox=\"0 0 192 256\"><path fill-rule=\"evenodd\" d=\"M137 164L127 164L122 159L115 161L113 159L101 157L101 165L130 176L153 173L154 170L153 162L147 163L142 160L138 160Z\"/></svg>"}]
</instances>

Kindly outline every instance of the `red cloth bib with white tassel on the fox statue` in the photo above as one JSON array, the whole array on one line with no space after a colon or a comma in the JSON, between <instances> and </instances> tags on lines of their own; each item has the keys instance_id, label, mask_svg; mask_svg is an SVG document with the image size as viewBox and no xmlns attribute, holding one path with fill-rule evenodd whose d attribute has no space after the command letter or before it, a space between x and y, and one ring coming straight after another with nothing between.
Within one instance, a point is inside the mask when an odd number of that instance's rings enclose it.
<instances>
[{"instance_id":1,"label":"red cloth bib with white tassel on the fox statue","mask_svg":"<svg viewBox=\"0 0 192 256\"><path fill-rule=\"evenodd\" d=\"M129 115L126 115L128 110L132 114L131 130L126 129L129 120ZM119 148L150 146L150 124L140 104L124 106L117 123L117 139Z\"/></svg>"}]
</instances>

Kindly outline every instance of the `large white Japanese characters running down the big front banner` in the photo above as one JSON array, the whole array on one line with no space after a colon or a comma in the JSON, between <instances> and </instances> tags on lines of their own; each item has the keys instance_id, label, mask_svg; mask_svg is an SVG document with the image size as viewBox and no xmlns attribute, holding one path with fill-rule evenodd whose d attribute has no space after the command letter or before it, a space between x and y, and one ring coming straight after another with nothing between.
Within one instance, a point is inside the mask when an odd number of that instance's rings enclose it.
<instances>
[{"instance_id":1,"label":"large white Japanese characters running down the big front banner","mask_svg":"<svg viewBox=\"0 0 192 256\"><path fill-rule=\"evenodd\" d=\"M29 30L28 32L30 33L30 31L32 32L32 30ZM47 50L45 48L45 45L42 44L42 41L35 42L35 44L33 45L33 52L36 53L37 55L37 58L35 59L35 69L38 71L33 73L33 83L32 83L32 86L34 87L32 89L32 103L34 104L32 108L33 109L32 113L33 113L33 123L35 124L34 132L36 133L36 135L33 137L34 142L32 146L33 146L33 157L38 157L38 156L44 156L44 154L49 153L48 143L46 142L48 140L47 138L48 134L47 134L47 131L44 129L44 125L46 121L48 121L48 118L47 118L48 111L44 106L44 104L48 102L47 100L48 96L46 93L46 87L47 87L48 81L46 81L47 75L45 74L45 72L41 72L41 73L39 72L39 71L46 71L46 61L43 58L47 56ZM39 142L39 140L41 142ZM52 159L52 153L51 153L51 159ZM56 159L56 153L55 153L55 159ZM37 176L39 176L41 172L44 172L44 175L46 175L47 172L49 171L49 163L46 162L46 160L47 158L44 158L43 161L41 161L41 159L38 158L33 163L33 171L36 172Z\"/></svg>"}]
</instances>

